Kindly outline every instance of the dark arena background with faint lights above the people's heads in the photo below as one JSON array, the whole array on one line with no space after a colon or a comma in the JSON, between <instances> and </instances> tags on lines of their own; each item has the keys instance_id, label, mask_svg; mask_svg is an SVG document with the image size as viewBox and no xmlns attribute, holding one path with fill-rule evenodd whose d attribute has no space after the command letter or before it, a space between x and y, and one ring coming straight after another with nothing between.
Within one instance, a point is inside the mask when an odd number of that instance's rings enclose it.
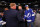
<instances>
[{"instance_id":1,"label":"dark arena background with faint lights above the people's heads","mask_svg":"<svg viewBox=\"0 0 40 27\"><path fill-rule=\"evenodd\" d=\"M10 8L9 4L11 2L15 2L17 5L22 5L23 9L25 9L26 4L32 9L40 9L40 0L0 0L0 9L3 10L5 7Z\"/></svg>"}]
</instances>

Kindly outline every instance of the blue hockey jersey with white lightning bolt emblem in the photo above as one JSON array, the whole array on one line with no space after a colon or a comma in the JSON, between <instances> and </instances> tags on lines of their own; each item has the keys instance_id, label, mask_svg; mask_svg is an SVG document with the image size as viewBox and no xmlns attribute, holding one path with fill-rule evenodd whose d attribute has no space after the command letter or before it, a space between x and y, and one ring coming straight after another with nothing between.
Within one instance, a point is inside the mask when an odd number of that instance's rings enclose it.
<instances>
[{"instance_id":1,"label":"blue hockey jersey with white lightning bolt emblem","mask_svg":"<svg viewBox=\"0 0 40 27\"><path fill-rule=\"evenodd\" d=\"M32 9L25 10L24 19L26 19L27 22L34 22L35 14Z\"/></svg>"}]
</instances>

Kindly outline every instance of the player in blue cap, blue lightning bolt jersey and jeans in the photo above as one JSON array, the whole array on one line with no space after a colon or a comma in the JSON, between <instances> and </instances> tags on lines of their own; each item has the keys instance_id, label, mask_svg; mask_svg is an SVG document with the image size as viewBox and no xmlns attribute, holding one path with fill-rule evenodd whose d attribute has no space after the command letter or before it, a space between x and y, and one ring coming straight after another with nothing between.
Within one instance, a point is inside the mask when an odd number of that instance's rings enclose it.
<instances>
[{"instance_id":1,"label":"player in blue cap, blue lightning bolt jersey and jeans","mask_svg":"<svg viewBox=\"0 0 40 27\"><path fill-rule=\"evenodd\" d=\"M30 25L31 25L31 27L33 27L35 15L33 13L33 10L31 8L29 8L28 5L25 5L25 7L26 7L26 10L24 13L24 19L26 19L26 21L27 21L27 27L29 27Z\"/></svg>"}]
</instances>

